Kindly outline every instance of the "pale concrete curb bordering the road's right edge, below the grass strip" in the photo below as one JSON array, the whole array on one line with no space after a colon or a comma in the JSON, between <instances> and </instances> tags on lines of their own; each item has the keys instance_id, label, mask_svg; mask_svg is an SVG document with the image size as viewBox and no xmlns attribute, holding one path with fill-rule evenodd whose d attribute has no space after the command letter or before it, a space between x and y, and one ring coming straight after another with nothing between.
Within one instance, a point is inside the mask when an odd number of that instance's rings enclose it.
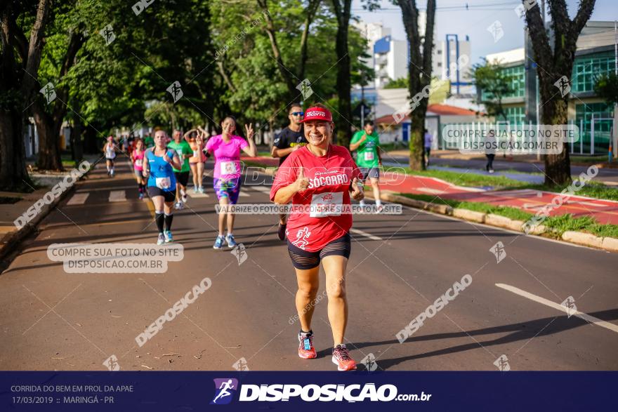
<instances>
[{"instance_id":1,"label":"pale concrete curb bordering the road's right edge, below the grass strip","mask_svg":"<svg viewBox=\"0 0 618 412\"><path fill-rule=\"evenodd\" d=\"M365 197L368 199L374 199L372 193L365 193ZM412 208L419 208L434 213L440 213L442 215L452 215L454 218L461 220L471 221L475 223L485 223L485 225L501 227L504 229L514 230L515 232L523 232L524 222L522 220L513 220L501 215L494 215L492 213L482 213L477 211L469 211L462 208L451 208L447 205L432 204L428 201L410 199L409 197L400 196L392 192L383 192L380 194L380 198L383 201L391 201ZM555 233L554 230L546 227L545 225L536 225L530 227L529 235L541 236L542 234ZM578 244L581 246L589 246L591 248L598 248L604 251L618 252L618 239L613 237L598 237L594 234L585 232L564 232L560 237L563 241L567 241L572 244Z\"/></svg>"}]
</instances>

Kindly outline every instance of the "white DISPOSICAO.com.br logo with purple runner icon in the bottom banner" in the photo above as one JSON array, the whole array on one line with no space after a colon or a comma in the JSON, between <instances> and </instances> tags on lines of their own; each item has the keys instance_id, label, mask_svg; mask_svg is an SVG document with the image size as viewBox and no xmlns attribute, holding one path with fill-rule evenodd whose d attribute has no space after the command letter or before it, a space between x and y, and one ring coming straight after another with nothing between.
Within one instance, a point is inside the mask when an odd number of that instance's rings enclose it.
<instances>
[{"instance_id":1,"label":"white DISPOSICAO.com.br logo with purple runner icon in the bottom banner","mask_svg":"<svg viewBox=\"0 0 618 412\"><path fill-rule=\"evenodd\" d=\"M237 380L232 378L215 379L215 396L211 404L228 404L232 401L234 392L238 389ZM376 387L375 383L365 383L364 385L294 385L294 384L272 384L272 385L249 385L243 384L239 388L238 401L289 401L300 399L306 402L313 401L428 401L431 394L422 392L419 394L397 394L395 385L381 385Z\"/></svg>"}]
</instances>

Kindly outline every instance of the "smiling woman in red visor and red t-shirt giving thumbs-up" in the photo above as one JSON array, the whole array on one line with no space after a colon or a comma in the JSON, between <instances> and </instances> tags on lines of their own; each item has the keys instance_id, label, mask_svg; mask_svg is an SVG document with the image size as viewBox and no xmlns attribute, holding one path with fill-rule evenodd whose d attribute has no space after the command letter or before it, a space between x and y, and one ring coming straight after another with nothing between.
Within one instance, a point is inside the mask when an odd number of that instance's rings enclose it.
<instances>
[{"instance_id":1,"label":"smiling woman in red visor and red t-shirt giving thumbs-up","mask_svg":"<svg viewBox=\"0 0 618 412\"><path fill-rule=\"evenodd\" d=\"M339 371L350 371L356 368L356 362L343 343L348 323L345 279L351 248L350 198L364 197L362 175L346 147L331 145L334 124L324 105L307 109L303 124L309 144L289 155L270 190L271 201L292 204L286 234L298 281L296 310L302 328L298 333L298 356L317 357L311 318L322 261L334 339L332 361Z\"/></svg>"}]
</instances>

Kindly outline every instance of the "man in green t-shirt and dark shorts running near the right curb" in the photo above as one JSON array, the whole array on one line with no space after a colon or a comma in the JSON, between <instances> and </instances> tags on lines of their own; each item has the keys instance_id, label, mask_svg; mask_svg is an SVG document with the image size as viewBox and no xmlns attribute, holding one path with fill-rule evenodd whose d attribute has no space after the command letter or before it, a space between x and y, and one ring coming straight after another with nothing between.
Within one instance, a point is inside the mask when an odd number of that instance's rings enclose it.
<instances>
[{"instance_id":1,"label":"man in green t-shirt and dark shorts running near the right curb","mask_svg":"<svg viewBox=\"0 0 618 412\"><path fill-rule=\"evenodd\" d=\"M364 124L362 131L354 133L350 141L350 152L357 150L356 164L362 172L363 182L369 177L372 188L374 190L374 199L376 199L376 213L382 211L382 201L380 199L380 169L382 166L382 157L380 149L380 138L378 133L374 133L374 124L372 121L367 121ZM364 206L364 201L360 201L360 206Z\"/></svg>"}]
</instances>

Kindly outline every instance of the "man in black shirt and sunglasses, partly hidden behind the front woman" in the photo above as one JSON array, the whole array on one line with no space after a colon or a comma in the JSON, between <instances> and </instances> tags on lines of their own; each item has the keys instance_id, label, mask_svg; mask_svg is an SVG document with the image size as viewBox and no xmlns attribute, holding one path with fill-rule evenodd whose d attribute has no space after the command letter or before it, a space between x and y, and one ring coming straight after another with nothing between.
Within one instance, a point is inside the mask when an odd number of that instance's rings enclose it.
<instances>
[{"instance_id":1,"label":"man in black shirt and sunglasses, partly hidden behind the front woman","mask_svg":"<svg viewBox=\"0 0 618 412\"><path fill-rule=\"evenodd\" d=\"M301 123L303 115L304 112L301 105L291 105L288 112L289 126L275 136L270 154L272 157L279 158L279 166L283 164L291 152L307 144L307 139L305 139L305 133L303 132L303 124ZM285 240L286 225L287 215L279 215L279 231L277 235L281 240Z\"/></svg>"}]
</instances>

